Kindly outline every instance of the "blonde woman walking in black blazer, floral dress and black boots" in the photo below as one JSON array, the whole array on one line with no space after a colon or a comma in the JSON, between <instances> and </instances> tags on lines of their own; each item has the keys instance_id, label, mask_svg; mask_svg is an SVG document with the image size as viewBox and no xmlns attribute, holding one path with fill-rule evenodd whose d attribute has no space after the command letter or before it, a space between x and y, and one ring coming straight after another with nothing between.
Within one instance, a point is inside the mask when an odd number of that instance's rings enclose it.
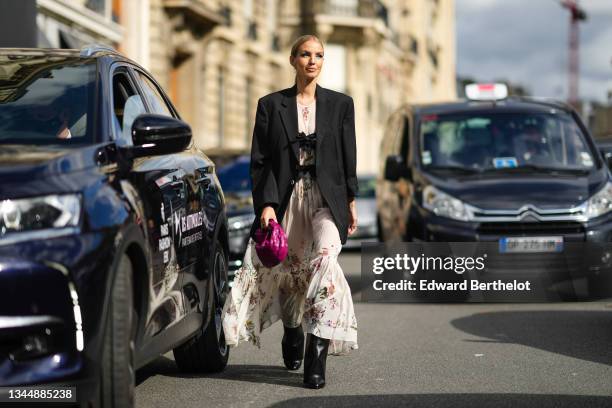
<instances>
[{"instance_id":1,"label":"blonde woman walking in black blazer, floral dress and black boots","mask_svg":"<svg viewBox=\"0 0 612 408\"><path fill-rule=\"evenodd\" d=\"M298 38L289 57L295 85L258 102L251 237L278 221L288 255L266 268L250 239L223 310L229 345L247 340L259 346L260 331L282 320L285 366L297 370L305 358L309 388L325 385L328 351L357 348L351 292L338 264L342 244L357 228L355 114L349 96L317 85L323 52L317 37Z\"/></svg>"}]
</instances>

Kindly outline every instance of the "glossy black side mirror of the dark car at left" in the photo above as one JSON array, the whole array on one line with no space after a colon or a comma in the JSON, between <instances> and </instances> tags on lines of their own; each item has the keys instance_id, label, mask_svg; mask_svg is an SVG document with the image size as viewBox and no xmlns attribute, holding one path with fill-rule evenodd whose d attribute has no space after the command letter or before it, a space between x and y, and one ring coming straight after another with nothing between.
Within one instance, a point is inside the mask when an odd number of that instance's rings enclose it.
<instances>
[{"instance_id":1,"label":"glossy black side mirror of the dark car at left","mask_svg":"<svg viewBox=\"0 0 612 408\"><path fill-rule=\"evenodd\" d=\"M176 118L146 113L134 119L132 140L134 157L177 153L191 143L191 127Z\"/></svg>"}]
</instances>

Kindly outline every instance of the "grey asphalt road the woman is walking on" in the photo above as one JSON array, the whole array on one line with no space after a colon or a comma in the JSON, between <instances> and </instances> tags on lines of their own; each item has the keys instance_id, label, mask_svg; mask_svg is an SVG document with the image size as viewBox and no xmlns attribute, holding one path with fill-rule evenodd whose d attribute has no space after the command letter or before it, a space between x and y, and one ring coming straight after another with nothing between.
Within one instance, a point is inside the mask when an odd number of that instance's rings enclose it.
<instances>
[{"instance_id":1,"label":"grey asphalt road the woman is walking on","mask_svg":"<svg viewBox=\"0 0 612 408\"><path fill-rule=\"evenodd\" d=\"M359 255L341 264L357 292ZM137 406L612 406L612 303L358 302L356 314L359 350L328 358L322 390L284 369L278 323L218 375L182 375L172 353L160 357L137 373Z\"/></svg>"}]
</instances>

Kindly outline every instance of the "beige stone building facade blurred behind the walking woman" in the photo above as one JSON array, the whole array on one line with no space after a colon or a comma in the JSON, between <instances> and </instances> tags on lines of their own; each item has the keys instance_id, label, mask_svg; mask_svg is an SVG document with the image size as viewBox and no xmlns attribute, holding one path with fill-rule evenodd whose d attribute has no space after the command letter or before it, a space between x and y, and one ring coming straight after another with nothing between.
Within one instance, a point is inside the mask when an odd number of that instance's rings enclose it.
<instances>
[{"instance_id":1,"label":"beige stone building facade blurred behind the walking woman","mask_svg":"<svg viewBox=\"0 0 612 408\"><path fill-rule=\"evenodd\" d=\"M321 85L355 101L360 173L378 169L392 111L456 95L454 0L28 1L31 46L116 47L153 73L204 150L248 150L257 100L293 84L289 50L306 33L325 44Z\"/></svg>"}]
</instances>

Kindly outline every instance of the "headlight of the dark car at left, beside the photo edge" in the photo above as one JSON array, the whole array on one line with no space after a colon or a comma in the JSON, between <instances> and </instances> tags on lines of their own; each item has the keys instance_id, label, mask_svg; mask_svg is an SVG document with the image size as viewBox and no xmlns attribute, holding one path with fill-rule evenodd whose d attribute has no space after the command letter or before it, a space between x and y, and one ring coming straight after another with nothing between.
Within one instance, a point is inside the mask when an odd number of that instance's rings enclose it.
<instances>
[{"instance_id":1,"label":"headlight of the dark car at left, beside the photo edge","mask_svg":"<svg viewBox=\"0 0 612 408\"><path fill-rule=\"evenodd\" d=\"M78 227L81 198L49 195L0 201L0 237L9 233Z\"/></svg>"}]
</instances>

